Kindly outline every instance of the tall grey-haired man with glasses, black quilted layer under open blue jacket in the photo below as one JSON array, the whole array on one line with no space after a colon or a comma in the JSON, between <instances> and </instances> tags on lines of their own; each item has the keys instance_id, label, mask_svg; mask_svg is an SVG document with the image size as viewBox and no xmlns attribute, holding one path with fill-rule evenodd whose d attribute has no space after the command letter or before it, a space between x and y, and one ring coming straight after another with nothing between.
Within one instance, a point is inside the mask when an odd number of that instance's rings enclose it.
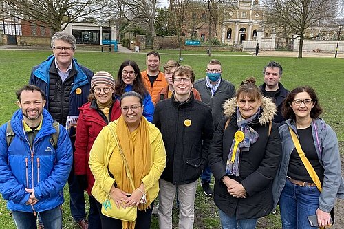
<instances>
[{"instance_id":1,"label":"tall grey-haired man with glasses, black quilted layer under open blue jacket","mask_svg":"<svg viewBox=\"0 0 344 229\"><path fill-rule=\"evenodd\" d=\"M29 83L45 92L47 95L45 109L50 112L54 120L66 127L74 146L76 135L74 127L79 116L78 108L87 102L93 72L77 63L74 58L76 39L73 35L56 32L52 36L51 45L53 55L33 67ZM81 228L87 229L85 199L81 188L83 183L87 184L87 181L85 177L78 178L72 168L68 178L70 210L72 217ZM89 215L92 216L94 215ZM92 221L98 222L92 228L100 228L99 217Z\"/></svg>"}]
</instances>

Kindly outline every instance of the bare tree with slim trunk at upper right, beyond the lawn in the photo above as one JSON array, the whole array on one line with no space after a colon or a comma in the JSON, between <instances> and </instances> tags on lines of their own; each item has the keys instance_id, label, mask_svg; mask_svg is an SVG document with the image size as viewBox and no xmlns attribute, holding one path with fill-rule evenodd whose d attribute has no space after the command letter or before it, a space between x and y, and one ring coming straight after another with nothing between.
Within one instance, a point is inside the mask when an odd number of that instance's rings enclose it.
<instances>
[{"instance_id":1,"label":"bare tree with slim trunk at upper right, beyond the lawn","mask_svg":"<svg viewBox=\"0 0 344 229\"><path fill-rule=\"evenodd\" d=\"M336 16L337 1L333 0L266 0L268 18L276 27L287 25L299 41L299 56L302 58L305 33L322 19Z\"/></svg>"}]
</instances>

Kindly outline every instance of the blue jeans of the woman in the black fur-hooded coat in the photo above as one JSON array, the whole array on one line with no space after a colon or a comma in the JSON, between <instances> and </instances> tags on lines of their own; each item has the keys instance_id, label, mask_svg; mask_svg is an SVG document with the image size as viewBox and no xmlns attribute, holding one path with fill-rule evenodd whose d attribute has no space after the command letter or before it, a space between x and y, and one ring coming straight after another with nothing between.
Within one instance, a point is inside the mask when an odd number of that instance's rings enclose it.
<instances>
[{"instance_id":1,"label":"blue jeans of the woman in the black fur-hooded coat","mask_svg":"<svg viewBox=\"0 0 344 229\"><path fill-rule=\"evenodd\" d=\"M219 210L219 217L223 229L255 229L258 219L239 219L235 215L228 216L222 210Z\"/></svg>"}]
</instances>

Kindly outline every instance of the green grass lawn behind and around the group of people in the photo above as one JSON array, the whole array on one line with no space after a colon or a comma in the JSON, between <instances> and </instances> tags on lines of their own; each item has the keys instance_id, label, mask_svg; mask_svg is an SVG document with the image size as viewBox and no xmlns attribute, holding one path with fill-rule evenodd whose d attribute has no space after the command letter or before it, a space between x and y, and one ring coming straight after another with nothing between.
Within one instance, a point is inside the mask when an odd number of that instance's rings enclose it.
<instances>
[{"instance_id":1,"label":"green grass lawn behind and around the group of people","mask_svg":"<svg viewBox=\"0 0 344 229\"><path fill-rule=\"evenodd\" d=\"M30 72L34 65L45 60L51 51L32 50L0 50L0 123L10 120L12 113L17 109L15 91L28 83ZM162 51L162 63L169 59L178 59L178 52ZM193 54L193 55L192 55ZM213 52L208 57L204 52L187 52L183 56L182 65L191 65L195 70L196 78L205 77L205 69L211 58L222 62L222 76L238 87L241 80L248 76L257 78L257 85L263 83L263 67L269 61L277 61L283 66L281 83L287 89L299 85L310 85L317 92L320 104L324 109L322 118L336 131L341 142L343 152L344 118L343 118L343 85L344 85L344 59L340 58L283 58L263 56L233 56L236 53ZM145 67L145 53L101 53L77 51L75 57L82 65L89 67L94 72L105 70L115 78L118 68L125 59L132 59L138 63L141 70ZM65 228L78 228L72 222L69 212L69 196L65 188L64 225ZM177 223L178 212L174 212L174 225ZM219 228L219 217L212 199L207 199L202 194L201 188L197 190L195 204L195 228ZM281 228L278 215L270 215L264 219L268 227ZM153 217L152 228L158 228L157 218ZM259 224L260 225L260 224ZM257 228L260 228L259 225ZM15 228L14 223L6 210L6 203L0 199L0 228Z\"/></svg>"}]
</instances>

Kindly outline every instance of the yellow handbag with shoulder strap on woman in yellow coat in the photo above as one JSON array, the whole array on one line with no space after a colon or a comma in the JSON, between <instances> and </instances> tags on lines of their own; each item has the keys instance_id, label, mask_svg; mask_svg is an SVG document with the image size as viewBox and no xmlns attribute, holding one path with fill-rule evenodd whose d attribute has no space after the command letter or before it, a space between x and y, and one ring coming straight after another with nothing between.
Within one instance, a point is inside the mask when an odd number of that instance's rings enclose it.
<instances>
[{"instance_id":1,"label":"yellow handbag with shoulder strap on woman in yellow coat","mask_svg":"<svg viewBox=\"0 0 344 229\"><path fill-rule=\"evenodd\" d=\"M133 188L133 190L135 190L135 186L133 184L133 178L131 177L129 166L128 166L127 160L125 160L125 155L122 152L122 148L120 147L120 144L118 143L118 140L116 138L116 135L114 134L114 131L112 131L112 129L108 126L107 128L109 128L109 130L111 131L116 141L116 144L118 145L120 155L122 157L123 162L125 163L125 170L126 170L127 176L129 177L131 187ZM107 200L105 200L104 203L102 204L102 214L107 217L120 219L122 221L132 222L136 220L136 217L138 215L138 209L136 206L131 206L127 208L122 208L120 206L120 208L118 209L114 200L111 198L109 194L109 196L107 197Z\"/></svg>"}]
</instances>

